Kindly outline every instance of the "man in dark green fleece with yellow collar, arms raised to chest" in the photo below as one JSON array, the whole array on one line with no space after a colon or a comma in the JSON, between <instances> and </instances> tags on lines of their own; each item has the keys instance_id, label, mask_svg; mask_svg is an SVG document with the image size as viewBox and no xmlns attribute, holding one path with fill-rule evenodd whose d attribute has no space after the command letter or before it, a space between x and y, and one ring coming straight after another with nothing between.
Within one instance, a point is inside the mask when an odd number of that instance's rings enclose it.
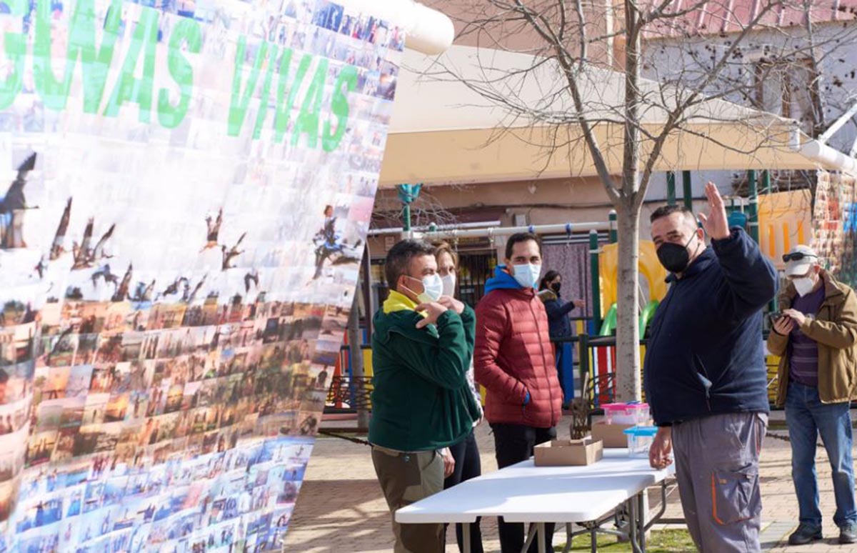
<instances>
[{"instance_id":1,"label":"man in dark green fleece with yellow collar, arms raised to chest","mask_svg":"<svg viewBox=\"0 0 857 553\"><path fill-rule=\"evenodd\" d=\"M374 318L369 442L395 517L397 509L443 490L440 450L464 438L479 418L467 384L476 317L458 300L441 297L428 243L394 245L385 273L390 296ZM396 553L444 549L442 524L400 525L393 518L393 533Z\"/></svg>"}]
</instances>

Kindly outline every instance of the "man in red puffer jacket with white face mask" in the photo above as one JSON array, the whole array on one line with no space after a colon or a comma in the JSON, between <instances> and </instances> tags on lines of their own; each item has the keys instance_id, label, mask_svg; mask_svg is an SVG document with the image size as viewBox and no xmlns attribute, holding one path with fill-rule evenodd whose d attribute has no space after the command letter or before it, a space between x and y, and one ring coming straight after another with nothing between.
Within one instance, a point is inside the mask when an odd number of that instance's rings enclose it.
<instances>
[{"instance_id":1,"label":"man in red puffer jacket with white face mask","mask_svg":"<svg viewBox=\"0 0 857 553\"><path fill-rule=\"evenodd\" d=\"M556 375L548 315L534 286L542 273L542 244L522 232L506 242L506 265L488 280L488 292L476 307L476 382L488 390L485 418L494 431L500 468L530 459L536 444L556 437L562 389ZM554 525L547 525L551 541ZM524 525L500 517L500 548L518 553L524 547ZM535 553L538 544L530 546Z\"/></svg>"}]
</instances>

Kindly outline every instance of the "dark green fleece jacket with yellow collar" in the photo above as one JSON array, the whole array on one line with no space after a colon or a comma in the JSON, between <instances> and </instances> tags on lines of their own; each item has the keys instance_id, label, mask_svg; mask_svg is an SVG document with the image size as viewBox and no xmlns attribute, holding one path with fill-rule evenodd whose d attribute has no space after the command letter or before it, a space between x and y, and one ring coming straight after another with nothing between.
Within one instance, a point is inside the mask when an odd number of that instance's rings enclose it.
<instances>
[{"instance_id":1,"label":"dark green fleece jacket with yellow collar","mask_svg":"<svg viewBox=\"0 0 857 553\"><path fill-rule=\"evenodd\" d=\"M446 311L417 328L422 315L391 292L375 314L372 334L372 419L369 442L398 451L428 451L460 441L479 418L467 384L476 316Z\"/></svg>"}]
</instances>

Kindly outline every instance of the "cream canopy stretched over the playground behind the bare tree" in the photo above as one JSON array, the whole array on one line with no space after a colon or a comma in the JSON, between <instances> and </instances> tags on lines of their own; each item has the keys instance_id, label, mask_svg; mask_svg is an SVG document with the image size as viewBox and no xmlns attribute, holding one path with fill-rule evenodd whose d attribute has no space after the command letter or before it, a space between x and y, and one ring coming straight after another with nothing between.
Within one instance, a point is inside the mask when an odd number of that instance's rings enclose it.
<instances>
[{"instance_id":1,"label":"cream canopy stretched over the playground behind the bare tree","mask_svg":"<svg viewBox=\"0 0 857 553\"><path fill-rule=\"evenodd\" d=\"M562 78L555 63L526 54L464 46L453 46L438 58L408 52L381 185L595 176L579 124L569 117L574 110ZM585 117L611 174L619 174L622 164L624 79L623 74L590 67L580 80ZM656 135L668 108L689 91L668 91L645 80L640 88L645 98L643 129ZM494 95L492 100L480 93L486 91ZM512 107L498 107L496 100ZM534 120L524 110L537 110L538 117ZM651 143L641 141L641 159L646 159ZM802 135L793 120L716 99L686 112L653 169L857 171L857 162Z\"/></svg>"}]
</instances>

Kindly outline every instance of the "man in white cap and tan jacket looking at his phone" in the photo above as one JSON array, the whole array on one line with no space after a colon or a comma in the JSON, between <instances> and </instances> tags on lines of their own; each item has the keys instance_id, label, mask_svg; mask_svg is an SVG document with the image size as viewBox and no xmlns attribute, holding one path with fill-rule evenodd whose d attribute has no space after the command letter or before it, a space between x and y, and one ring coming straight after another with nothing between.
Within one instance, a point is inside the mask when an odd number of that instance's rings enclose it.
<instances>
[{"instance_id":1,"label":"man in white cap and tan jacket looking at his phone","mask_svg":"<svg viewBox=\"0 0 857 553\"><path fill-rule=\"evenodd\" d=\"M782 256L788 286L778 298L780 316L768 349L780 357L776 405L786 407L792 479L800 526L792 545L822 538L815 449L818 436L830 458L839 543L857 543L850 401L857 399L857 298L821 267L816 252L800 245Z\"/></svg>"}]
</instances>

